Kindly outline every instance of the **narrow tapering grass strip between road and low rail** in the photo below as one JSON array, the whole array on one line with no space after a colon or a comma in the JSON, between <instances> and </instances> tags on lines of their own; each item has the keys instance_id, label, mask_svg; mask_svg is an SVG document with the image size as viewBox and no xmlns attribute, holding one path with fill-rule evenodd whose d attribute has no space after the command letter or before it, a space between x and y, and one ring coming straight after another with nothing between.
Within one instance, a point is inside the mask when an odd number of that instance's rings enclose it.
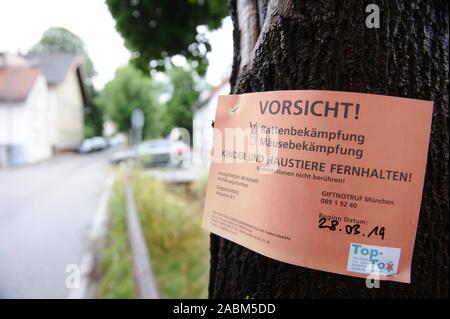
<instances>
[{"instance_id":1,"label":"narrow tapering grass strip between road and low rail","mask_svg":"<svg viewBox=\"0 0 450 319\"><path fill-rule=\"evenodd\" d=\"M124 196L123 179L118 178L109 202L110 221L106 246L100 256L102 278L97 298L136 298Z\"/></svg>"}]
</instances>

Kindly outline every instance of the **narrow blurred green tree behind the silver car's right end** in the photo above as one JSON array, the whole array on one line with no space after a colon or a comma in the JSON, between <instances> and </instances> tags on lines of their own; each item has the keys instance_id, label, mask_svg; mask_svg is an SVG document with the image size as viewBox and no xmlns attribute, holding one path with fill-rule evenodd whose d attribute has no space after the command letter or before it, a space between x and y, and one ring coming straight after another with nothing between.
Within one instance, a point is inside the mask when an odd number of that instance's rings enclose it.
<instances>
[{"instance_id":1,"label":"narrow blurred green tree behind the silver car's right end","mask_svg":"<svg viewBox=\"0 0 450 319\"><path fill-rule=\"evenodd\" d=\"M167 102L163 113L163 133L170 133L173 127L183 127L192 137L192 107L197 102L199 92L192 70L174 67L167 71L172 84L172 97Z\"/></svg>"}]
</instances>

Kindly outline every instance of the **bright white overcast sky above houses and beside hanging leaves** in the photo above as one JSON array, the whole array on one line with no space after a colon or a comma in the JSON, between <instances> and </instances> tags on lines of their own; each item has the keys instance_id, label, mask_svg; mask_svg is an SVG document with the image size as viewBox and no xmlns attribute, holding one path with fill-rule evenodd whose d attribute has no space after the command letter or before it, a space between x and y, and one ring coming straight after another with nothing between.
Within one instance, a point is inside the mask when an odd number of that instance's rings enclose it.
<instances>
[{"instance_id":1,"label":"bright white overcast sky above houses and beside hanging leaves","mask_svg":"<svg viewBox=\"0 0 450 319\"><path fill-rule=\"evenodd\" d=\"M93 80L97 89L112 80L115 70L130 58L104 0L0 0L0 52L26 53L50 27L64 27L86 43L98 73ZM211 32L210 43L206 80L217 85L229 75L232 62L229 18Z\"/></svg>"}]
</instances>

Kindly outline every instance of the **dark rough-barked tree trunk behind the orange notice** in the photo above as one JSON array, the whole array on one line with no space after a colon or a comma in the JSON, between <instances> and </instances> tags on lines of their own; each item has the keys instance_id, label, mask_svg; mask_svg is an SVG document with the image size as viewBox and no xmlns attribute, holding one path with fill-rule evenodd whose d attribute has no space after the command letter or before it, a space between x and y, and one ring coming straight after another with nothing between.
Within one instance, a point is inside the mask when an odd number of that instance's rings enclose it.
<instances>
[{"instance_id":1,"label":"dark rough-barked tree trunk behind the orange notice","mask_svg":"<svg viewBox=\"0 0 450 319\"><path fill-rule=\"evenodd\" d=\"M366 27L370 3L380 8L378 29ZM411 284L368 289L363 279L278 262L212 234L210 297L448 297L447 1L229 0L229 10L232 93L374 93L432 100L434 112Z\"/></svg>"}]
</instances>

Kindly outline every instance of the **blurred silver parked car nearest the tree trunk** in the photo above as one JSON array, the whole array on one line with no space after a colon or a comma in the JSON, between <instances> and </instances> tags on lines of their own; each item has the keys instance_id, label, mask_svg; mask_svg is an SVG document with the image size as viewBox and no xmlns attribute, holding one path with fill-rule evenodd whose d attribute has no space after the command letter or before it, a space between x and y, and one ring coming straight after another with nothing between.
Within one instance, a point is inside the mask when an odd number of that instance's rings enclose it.
<instances>
[{"instance_id":1,"label":"blurred silver parked car nearest the tree trunk","mask_svg":"<svg viewBox=\"0 0 450 319\"><path fill-rule=\"evenodd\" d=\"M112 155L111 163L118 164L129 159L139 159L144 166L181 165L190 156L186 143L170 139L148 140L128 150Z\"/></svg>"}]
</instances>

